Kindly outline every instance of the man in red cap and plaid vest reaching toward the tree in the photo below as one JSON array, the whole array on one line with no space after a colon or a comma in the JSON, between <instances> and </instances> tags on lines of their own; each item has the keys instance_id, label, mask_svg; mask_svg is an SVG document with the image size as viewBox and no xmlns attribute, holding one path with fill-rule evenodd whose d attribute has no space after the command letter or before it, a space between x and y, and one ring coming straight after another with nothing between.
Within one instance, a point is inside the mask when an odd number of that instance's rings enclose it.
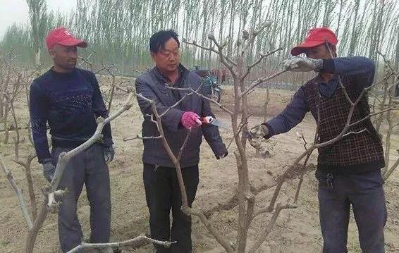
<instances>
[{"instance_id":1,"label":"man in red cap and plaid vest reaching toward the tree","mask_svg":"<svg viewBox=\"0 0 399 253\"><path fill-rule=\"evenodd\" d=\"M302 85L278 116L252 128L252 137L269 138L288 132L310 111L318 122L318 142L326 142L343 130L350 103L374 81L374 62L360 56L336 58L338 39L328 28L309 31L305 42L291 50L286 69L316 71L316 78ZM298 56L306 54L307 58ZM343 87L340 86L342 82ZM367 97L360 99L351 122L369 115ZM323 252L348 252L348 222L352 206L364 253L384 252L383 227L386 204L381 168L385 166L379 135L369 118L354 125L342 139L319 149L319 214L324 238ZM251 142L251 140L250 140Z\"/></svg>"}]
</instances>

